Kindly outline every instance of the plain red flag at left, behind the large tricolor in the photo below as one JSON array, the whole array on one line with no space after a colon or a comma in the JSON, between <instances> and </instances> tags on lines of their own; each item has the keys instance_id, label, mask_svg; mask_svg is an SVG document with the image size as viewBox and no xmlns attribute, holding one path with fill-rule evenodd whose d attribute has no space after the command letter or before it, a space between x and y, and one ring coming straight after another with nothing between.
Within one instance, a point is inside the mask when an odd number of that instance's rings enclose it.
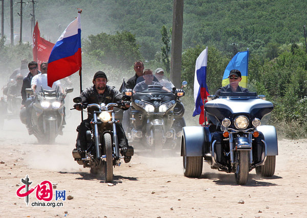
<instances>
[{"instance_id":1,"label":"plain red flag at left, behind the large tricolor","mask_svg":"<svg viewBox=\"0 0 307 218\"><path fill-rule=\"evenodd\" d=\"M38 29L38 22L33 31L32 47L33 47L33 60L37 62L38 68L40 64L46 62L49 59L54 44L50 41L40 37L40 31Z\"/></svg>"}]
</instances>

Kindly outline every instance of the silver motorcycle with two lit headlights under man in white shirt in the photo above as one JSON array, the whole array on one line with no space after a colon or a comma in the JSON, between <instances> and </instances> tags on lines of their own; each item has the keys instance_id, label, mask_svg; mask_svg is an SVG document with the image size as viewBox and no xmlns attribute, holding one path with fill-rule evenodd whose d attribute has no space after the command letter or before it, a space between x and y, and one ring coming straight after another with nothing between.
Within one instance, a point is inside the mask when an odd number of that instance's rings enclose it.
<instances>
[{"instance_id":1,"label":"silver motorcycle with two lit headlights under man in white shirt","mask_svg":"<svg viewBox=\"0 0 307 218\"><path fill-rule=\"evenodd\" d=\"M72 92L73 88L65 88L64 93L55 90L41 89L39 93L33 93L33 89L27 88L26 92L33 96L31 125L33 134L39 143L52 144L58 134L62 134L64 123L64 99Z\"/></svg>"}]
</instances>

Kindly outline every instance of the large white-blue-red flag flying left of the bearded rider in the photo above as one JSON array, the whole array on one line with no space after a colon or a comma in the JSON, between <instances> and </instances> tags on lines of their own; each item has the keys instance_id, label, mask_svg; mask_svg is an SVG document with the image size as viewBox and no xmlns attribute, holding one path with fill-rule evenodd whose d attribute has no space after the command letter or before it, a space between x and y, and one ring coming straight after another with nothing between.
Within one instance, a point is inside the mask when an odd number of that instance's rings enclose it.
<instances>
[{"instance_id":1,"label":"large white-blue-red flag flying left of the bearded rider","mask_svg":"<svg viewBox=\"0 0 307 218\"><path fill-rule=\"evenodd\" d=\"M68 77L81 67L81 11L55 43L48 61L48 86Z\"/></svg>"}]
</instances>

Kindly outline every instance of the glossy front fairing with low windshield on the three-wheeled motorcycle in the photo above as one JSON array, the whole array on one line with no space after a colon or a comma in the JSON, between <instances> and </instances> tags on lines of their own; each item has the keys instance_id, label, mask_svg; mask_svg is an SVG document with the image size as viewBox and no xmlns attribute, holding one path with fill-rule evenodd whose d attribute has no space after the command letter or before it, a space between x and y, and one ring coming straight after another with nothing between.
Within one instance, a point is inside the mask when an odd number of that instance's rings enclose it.
<instances>
[{"instance_id":1,"label":"glossy front fairing with low windshield on the three-wheeled motorcycle","mask_svg":"<svg viewBox=\"0 0 307 218\"><path fill-rule=\"evenodd\" d=\"M256 92L221 92L220 98L207 102L204 108L221 122L225 117L237 114L262 119L271 113L273 104L258 98Z\"/></svg>"}]
</instances>

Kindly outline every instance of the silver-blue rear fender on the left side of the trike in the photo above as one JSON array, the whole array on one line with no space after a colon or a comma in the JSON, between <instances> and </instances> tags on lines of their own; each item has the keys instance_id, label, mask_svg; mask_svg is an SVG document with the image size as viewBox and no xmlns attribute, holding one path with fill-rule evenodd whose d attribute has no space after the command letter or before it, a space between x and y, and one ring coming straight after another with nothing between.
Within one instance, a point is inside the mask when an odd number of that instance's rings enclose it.
<instances>
[{"instance_id":1,"label":"silver-blue rear fender on the left side of the trike","mask_svg":"<svg viewBox=\"0 0 307 218\"><path fill-rule=\"evenodd\" d=\"M185 146L186 156L203 156L203 148L210 143L211 135L208 127L184 127L181 137L181 156Z\"/></svg>"}]
</instances>

